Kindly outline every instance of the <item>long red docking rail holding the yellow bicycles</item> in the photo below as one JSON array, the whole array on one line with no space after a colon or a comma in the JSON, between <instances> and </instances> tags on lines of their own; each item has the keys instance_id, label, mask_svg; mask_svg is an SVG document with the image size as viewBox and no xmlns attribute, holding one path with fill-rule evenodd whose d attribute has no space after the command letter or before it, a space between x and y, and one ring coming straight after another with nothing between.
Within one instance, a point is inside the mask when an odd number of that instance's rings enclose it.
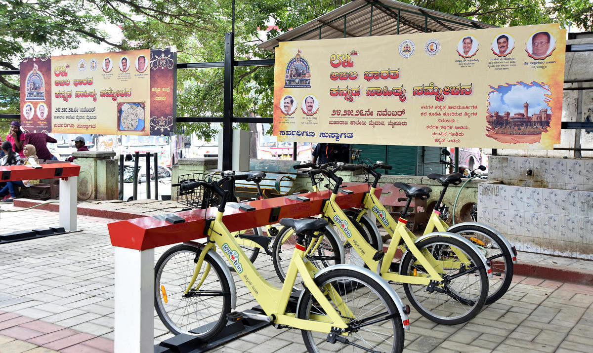
<instances>
[{"instance_id":1,"label":"long red docking rail holding the yellow bicycles","mask_svg":"<svg viewBox=\"0 0 593 353\"><path fill-rule=\"evenodd\" d=\"M347 190L352 191L352 193L340 192L336 197L337 204L343 209L361 206L362 197L365 192L369 191L369 186L366 183L349 185ZM298 195L307 197L310 201L293 200L290 197L250 201L245 204L255 207L255 210L244 211L227 206L222 220L229 231L237 232L238 230L278 223L280 219L286 217L299 219L315 216L321 213L323 200L329 198L329 191L308 192ZM381 196L380 188L377 188L375 195L377 197ZM111 245L120 248L146 250L205 238L204 226L206 219L215 217L216 212L215 207L205 210L177 212L174 215L183 218L185 222L175 224L165 220L158 220L155 217L142 217L109 223L107 227L109 228Z\"/></svg>"}]
</instances>

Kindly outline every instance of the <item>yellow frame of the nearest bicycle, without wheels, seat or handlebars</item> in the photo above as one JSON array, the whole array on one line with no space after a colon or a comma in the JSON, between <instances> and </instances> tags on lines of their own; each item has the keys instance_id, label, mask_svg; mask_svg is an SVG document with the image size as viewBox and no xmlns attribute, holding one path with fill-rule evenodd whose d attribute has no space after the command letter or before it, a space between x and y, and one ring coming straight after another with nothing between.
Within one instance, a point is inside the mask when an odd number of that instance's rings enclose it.
<instances>
[{"instance_id":1,"label":"yellow frame of the nearest bicycle, without wheels, seat or handlebars","mask_svg":"<svg viewBox=\"0 0 593 353\"><path fill-rule=\"evenodd\" d=\"M206 243L205 248L203 248L200 253L196 263L195 273L187 287L186 293L194 287L197 280L197 274L199 274L200 269L202 268L206 252L213 249L214 246L219 246L227 257L227 260L235 268L239 277L241 277L241 280L247 285L251 294L253 294L257 302L262 306L266 315L272 318L273 323L324 333L329 333L332 328L345 329L348 327L346 319L352 319L354 317L352 312L350 312L343 302L336 302L336 306L339 307L340 310L339 313L333 309L333 306L327 299L326 295L324 295L321 289L317 287L317 284L315 284L314 274L319 270L313 264L304 260L304 246L297 244L286 274L286 279L282 288L279 289L266 281L262 275L259 274L259 271L257 271L251 261L249 261L241 247L235 241L235 238L231 235L224 223L222 223L222 214L221 211L218 211L216 218L210 223L208 229L208 243ZM205 269L203 278L206 277L209 270L208 267ZM295 313L286 313L286 307L288 306L288 300L292 293L292 287L294 286L295 279L299 272L305 286L321 307L323 307L324 312L327 313L331 322L327 322L327 319L322 317L317 317L316 320L298 319ZM202 284L203 278L200 279L197 287ZM330 295L331 293L334 293L334 288L331 287L331 285L327 285L323 290L326 291L326 293L329 292ZM334 300L341 300L341 297L337 295L337 293L331 297L334 298Z\"/></svg>"}]
</instances>

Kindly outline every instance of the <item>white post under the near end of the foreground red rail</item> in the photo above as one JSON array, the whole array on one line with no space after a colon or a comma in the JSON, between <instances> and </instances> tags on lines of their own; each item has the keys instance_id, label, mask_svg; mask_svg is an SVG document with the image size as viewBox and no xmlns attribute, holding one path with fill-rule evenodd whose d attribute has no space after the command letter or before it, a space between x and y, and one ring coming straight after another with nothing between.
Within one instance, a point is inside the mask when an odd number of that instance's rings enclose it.
<instances>
[{"instance_id":1,"label":"white post under the near end of the foreground red rail","mask_svg":"<svg viewBox=\"0 0 593 353\"><path fill-rule=\"evenodd\" d=\"M115 351L154 351L154 249L115 246Z\"/></svg>"}]
</instances>

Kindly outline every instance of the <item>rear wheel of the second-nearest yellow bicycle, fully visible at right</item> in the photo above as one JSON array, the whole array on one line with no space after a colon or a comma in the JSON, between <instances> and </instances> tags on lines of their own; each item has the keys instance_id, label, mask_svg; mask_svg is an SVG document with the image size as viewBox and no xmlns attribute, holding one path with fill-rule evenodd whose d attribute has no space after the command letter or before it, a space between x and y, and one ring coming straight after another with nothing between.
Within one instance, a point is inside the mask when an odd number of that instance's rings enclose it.
<instances>
[{"instance_id":1,"label":"rear wheel of the second-nearest yellow bicycle, fully visible at right","mask_svg":"<svg viewBox=\"0 0 593 353\"><path fill-rule=\"evenodd\" d=\"M488 280L486 269L476 251L460 240L447 236L427 238L416 246L420 251L428 251L444 268L441 277L444 285L436 285L433 291L429 286L404 283L404 291L410 303L427 319L444 325L457 325L473 319L480 312L488 296ZM451 258L455 251L461 251L470 260L471 271L463 271ZM420 264L415 264L415 256L411 251L401 259L403 274L414 276L428 272ZM447 268L447 263L454 263ZM459 275L459 277L454 277Z\"/></svg>"}]
</instances>

